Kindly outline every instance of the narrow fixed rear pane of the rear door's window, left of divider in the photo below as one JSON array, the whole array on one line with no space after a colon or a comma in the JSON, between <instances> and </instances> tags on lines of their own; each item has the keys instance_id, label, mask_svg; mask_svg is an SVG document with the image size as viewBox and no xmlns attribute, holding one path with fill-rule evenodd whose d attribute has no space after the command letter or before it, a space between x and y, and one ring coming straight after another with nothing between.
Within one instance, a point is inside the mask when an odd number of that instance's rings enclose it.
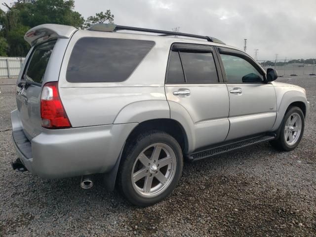
<instances>
[{"instance_id":1,"label":"narrow fixed rear pane of the rear door's window, left of divider","mask_svg":"<svg viewBox=\"0 0 316 237\"><path fill-rule=\"evenodd\" d=\"M184 74L178 51L171 51L167 73L168 83L184 83Z\"/></svg>"}]
</instances>

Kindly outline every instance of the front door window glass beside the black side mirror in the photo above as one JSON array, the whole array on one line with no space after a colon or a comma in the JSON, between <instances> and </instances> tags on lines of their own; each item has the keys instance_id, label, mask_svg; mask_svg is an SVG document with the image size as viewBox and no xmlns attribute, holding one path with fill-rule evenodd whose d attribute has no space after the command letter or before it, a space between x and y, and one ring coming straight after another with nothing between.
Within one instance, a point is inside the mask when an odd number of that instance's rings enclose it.
<instances>
[{"instance_id":1,"label":"front door window glass beside the black side mirror","mask_svg":"<svg viewBox=\"0 0 316 237\"><path fill-rule=\"evenodd\" d=\"M263 76L245 59L221 54L226 77L229 83L262 82Z\"/></svg>"}]
</instances>

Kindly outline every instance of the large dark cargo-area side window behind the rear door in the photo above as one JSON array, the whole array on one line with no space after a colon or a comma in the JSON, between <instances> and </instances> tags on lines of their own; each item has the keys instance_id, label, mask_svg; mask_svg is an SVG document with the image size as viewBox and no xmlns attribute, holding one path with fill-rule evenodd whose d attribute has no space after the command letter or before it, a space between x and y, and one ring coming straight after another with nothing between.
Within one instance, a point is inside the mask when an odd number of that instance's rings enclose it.
<instances>
[{"instance_id":1,"label":"large dark cargo-area side window behind the rear door","mask_svg":"<svg viewBox=\"0 0 316 237\"><path fill-rule=\"evenodd\" d=\"M126 80L155 45L148 40L82 38L72 51L69 82L121 82Z\"/></svg>"}]
</instances>

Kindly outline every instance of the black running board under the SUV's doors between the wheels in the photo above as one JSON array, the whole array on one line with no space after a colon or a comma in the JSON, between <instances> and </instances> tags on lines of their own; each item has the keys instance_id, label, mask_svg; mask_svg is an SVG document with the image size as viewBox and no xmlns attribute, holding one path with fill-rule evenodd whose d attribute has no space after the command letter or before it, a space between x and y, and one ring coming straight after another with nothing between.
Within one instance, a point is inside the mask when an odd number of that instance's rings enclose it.
<instances>
[{"instance_id":1,"label":"black running board under the SUV's doors between the wheels","mask_svg":"<svg viewBox=\"0 0 316 237\"><path fill-rule=\"evenodd\" d=\"M243 141L238 141L234 143L229 143L226 145L221 145L217 147L213 147L207 150L199 151L199 152L194 152L189 155L187 155L187 158L189 160L198 160L198 159L203 159L203 158L208 158L212 156L216 156L222 153L230 152L233 150L237 150L239 148L251 146L257 143L261 142L266 142L266 141L271 141L276 138L275 134L270 134L270 135L265 135L265 136L259 136L259 137L253 137L247 140Z\"/></svg>"}]
</instances>

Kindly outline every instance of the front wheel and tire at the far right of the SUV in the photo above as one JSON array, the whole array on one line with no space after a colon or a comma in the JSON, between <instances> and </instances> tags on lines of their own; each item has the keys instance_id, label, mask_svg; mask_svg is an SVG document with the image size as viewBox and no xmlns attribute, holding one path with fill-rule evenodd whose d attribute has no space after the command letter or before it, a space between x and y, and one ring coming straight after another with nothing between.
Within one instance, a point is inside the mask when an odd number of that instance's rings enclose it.
<instances>
[{"instance_id":1,"label":"front wheel and tire at the far right of the SUV","mask_svg":"<svg viewBox=\"0 0 316 237\"><path fill-rule=\"evenodd\" d=\"M296 120L292 124L293 120L291 119L294 118ZM302 110L298 107L290 107L282 120L279 137L270 141L270 144L280 151L294 150L302 139L304 126L305 120Z\"/></svg>"}]
</instances>

